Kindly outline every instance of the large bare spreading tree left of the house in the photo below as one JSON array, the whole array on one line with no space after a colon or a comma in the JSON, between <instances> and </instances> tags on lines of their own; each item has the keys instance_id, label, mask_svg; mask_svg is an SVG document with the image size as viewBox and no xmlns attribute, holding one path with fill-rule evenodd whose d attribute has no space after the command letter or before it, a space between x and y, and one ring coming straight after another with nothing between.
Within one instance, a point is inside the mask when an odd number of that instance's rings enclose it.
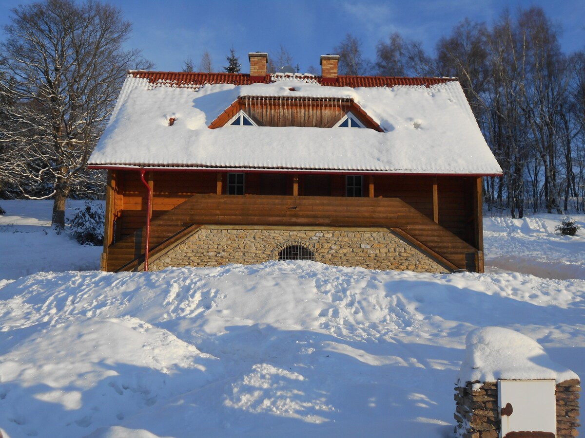
<instances>
[{"instance_id":1,"label":"large bare spreading tree left of the house","mask_svg":"<svg viewBox=\"0 0 585 438\"><path fill-rule=\"evenodd\" d=\"M53 224L62 228L66 199L87 176L87 159L126 72L150 65L139 51L123 50L131 26L111 5L46 0L12 14L1 44L0 141L9 148L2 162L10 163L2 172L16 180L26 173L46 185L43 197L54 198Z\"/></svg>"}]
</instances>

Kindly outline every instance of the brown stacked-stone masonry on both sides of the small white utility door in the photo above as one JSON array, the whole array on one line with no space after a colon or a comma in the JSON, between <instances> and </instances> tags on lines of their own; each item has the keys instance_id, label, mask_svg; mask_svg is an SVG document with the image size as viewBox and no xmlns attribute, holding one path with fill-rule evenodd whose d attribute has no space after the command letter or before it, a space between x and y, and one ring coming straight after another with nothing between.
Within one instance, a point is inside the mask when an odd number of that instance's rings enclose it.
<instances>
[{"instance_id":1,"label":"brown stacked-stone masonry on both sides of the small white utility door","mask_svg":"<svg viewBox=\"0 0 585 438\"><path fill-rule=\"evenodd\" d=\"M497 438L500 435L497 382L467 382L455 388L455 435L460 438ZM579 380L566 380L556 385L556 436L579 436Z\"/></svg>"}]
</instances>

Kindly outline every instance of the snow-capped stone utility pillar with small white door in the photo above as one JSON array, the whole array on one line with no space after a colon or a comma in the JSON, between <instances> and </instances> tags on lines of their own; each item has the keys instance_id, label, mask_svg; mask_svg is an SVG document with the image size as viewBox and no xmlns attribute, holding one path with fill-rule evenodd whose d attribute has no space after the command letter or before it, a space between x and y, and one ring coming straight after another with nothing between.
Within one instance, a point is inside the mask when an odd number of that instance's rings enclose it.
<instances>
[{"instance_id":1,"label":"snow-capped stone utility pillar with small white door","mask_svg":"<svg viewBox=\"0 0 585 438\"><path fill-rule=\"evenodd\" d=\"M455 434L575 437L580 390L579 376L550 360L534 339L501 327L475 329L457 376Z\"/></svg>"}]
</instances>

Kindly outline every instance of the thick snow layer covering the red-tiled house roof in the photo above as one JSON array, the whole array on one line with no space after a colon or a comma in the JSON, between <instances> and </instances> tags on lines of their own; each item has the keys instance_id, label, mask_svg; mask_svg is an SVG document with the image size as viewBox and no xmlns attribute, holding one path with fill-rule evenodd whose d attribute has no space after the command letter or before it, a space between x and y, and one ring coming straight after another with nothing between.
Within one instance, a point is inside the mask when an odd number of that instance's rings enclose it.
<instances>
[{"instance_id":1,"label":"thick snow layer covering the red-tiled house roof","mask_svg":"<svg viewBox=\"0 0 585 438\"><path fill-rule=\"evenodd\" d=\"M384 133L357 128L208 125L238 96L353 99ZM173 126L168 120L174 117ZM271 84L153 86L129 74L92 166L174 166L493 175L501 173L459 82L350 88L294 77Z\"/></svg>"}]
</instances>

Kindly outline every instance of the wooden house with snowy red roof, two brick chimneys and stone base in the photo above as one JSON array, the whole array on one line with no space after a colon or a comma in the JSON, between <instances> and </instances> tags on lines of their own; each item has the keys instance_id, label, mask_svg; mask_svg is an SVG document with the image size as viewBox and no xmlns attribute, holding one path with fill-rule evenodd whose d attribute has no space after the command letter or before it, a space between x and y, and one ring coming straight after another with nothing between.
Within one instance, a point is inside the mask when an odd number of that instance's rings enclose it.
<instances>
[{"instance_id":1,"label":"wooden house with snowy red roof, two brick chimneys and stone base","mask_svg":"<svg viewBox=\"0 0 585 438\"><path fill-rule=\"evenodd\" d=\"M483 272L501 169L453 78L130 71L90 158L102 269L312 259Z\"/></svg>"}]
</instances>

